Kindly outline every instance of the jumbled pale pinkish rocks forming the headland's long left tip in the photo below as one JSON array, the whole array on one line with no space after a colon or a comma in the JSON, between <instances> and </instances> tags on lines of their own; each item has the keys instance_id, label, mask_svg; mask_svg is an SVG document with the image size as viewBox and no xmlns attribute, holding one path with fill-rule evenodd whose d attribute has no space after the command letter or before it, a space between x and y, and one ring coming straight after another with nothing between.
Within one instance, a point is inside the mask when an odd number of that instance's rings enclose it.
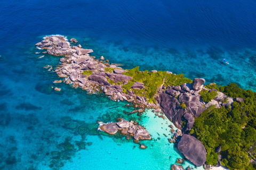
<instances>
[{"instance_id":1,"label":"jumbled pale pinkish rocks forming the headland's long left tip","mask_svg":"<svg viewBox=\"0 0 256 170\"><path fill-rule=\"evenodd\" d=\"M71 41L72 40L72 41ZM74 39L70 41L75 43ZM113 64L109 64L103 56L100 60L95 60L95 57L89 55L92 49L84 49L78 46L71 46L61 36L44 37L44 40L36 44L37 47L47 49L50 55L64 55L60 58L61 65L56 67L55 72L59 78L65 78L65 83L72 84L74 88L82 88L91 93L103 91L109 98L113 100L127 100L140 104L140 107L157 108L157 105L147 102L145 97L123 92L122 84L128 83L132 77L124 75L124 69ZM84 73L86 71L86 73ZM110 83L113 82L113 83ZM120 86L114 83L121 83ZM133 89L143 89L144 84L135 82Z\"/></svg>"}]
</instances>

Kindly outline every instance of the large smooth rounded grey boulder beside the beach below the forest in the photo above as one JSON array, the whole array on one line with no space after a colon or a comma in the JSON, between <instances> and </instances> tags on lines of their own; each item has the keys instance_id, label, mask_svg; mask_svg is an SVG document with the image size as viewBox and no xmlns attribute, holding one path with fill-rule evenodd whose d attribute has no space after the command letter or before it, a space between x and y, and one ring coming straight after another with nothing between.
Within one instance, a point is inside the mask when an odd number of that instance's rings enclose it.
<instances>
[{"instance_id":1,"label":"large smooth rounded grey boulder beside the beach below the forest","mask_svg":"<svg viewBox=\"0 0 256 170\"><path fill-rule=\"evenodd\" d=\"M196 166L202 166L206 162L206 150L201 141L188 134L183 134L178 150Z\"/></svg>"}]
</instances>

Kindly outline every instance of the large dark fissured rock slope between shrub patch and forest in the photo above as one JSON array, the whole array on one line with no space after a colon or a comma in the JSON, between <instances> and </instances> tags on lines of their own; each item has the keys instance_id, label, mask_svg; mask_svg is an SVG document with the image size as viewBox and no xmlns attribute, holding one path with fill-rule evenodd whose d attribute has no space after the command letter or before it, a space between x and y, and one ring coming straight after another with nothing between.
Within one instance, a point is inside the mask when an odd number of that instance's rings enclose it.
<instances>
[{"instance_id":1,"label":"large dark fissured rock slope between shrub patch and forest","mask_svg":"<svg viewBox=\"0 0 256 170\"><path fill-rule=\"evenodd\" d=\"M192 84L182 84L167 89L156 97L166 117L171 120L177 128L182 128L182 122L186 122L184 132L190 130L194 125L194 117L198 117L206 107L205 103L200 100L201 95L195 90L191 90ZM186 109L180 104L184 103Z\"/></svg>"}]
</instances>

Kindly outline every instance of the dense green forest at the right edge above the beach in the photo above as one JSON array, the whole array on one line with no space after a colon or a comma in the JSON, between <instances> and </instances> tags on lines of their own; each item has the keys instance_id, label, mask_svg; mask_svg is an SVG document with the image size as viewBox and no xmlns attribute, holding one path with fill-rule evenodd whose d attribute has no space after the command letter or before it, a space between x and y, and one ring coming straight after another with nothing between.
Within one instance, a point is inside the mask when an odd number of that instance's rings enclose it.
<instances>
[{"instance_id":1,"label":"dense green forest at the right edge above the beach","mask_svg":"<svg viewBox=\"0 0 256 170\"><path fill-rule=\"evenodd\" d=\"M244 98L244 102L235 101L228 108L208 107L195 118L190 133L205 146L206 164L216 165L215 148L221 146L218 154L222 156L222 165L232 170L256 169L255 165L249 165L249 159L256 158L256 92L243 90L235 83L218 87L229 97Z\"/></svg>"}]
</instances>

